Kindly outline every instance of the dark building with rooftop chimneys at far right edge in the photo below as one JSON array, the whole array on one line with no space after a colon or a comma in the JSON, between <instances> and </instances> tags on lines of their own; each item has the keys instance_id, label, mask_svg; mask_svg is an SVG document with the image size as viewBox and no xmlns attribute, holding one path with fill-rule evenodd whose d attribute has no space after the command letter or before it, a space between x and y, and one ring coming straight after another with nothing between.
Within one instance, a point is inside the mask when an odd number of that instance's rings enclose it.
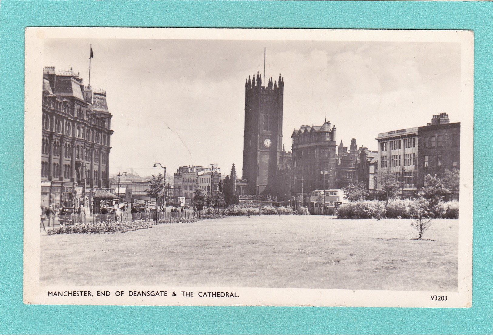
<instances>
[{"instance_id":1,"label":"dark building with rooftop chimneys at far right edge","mask_svg":"<svg viewBox=\"0 0 493 336\"><path fill-rule=\"evenodd\" d=\"M433 115L431 123L418 128L418 187L426 186L427 174L442 178L446 170L460 168L460 122L450 123L447 113Z\"/></svg>"}]
</instances>

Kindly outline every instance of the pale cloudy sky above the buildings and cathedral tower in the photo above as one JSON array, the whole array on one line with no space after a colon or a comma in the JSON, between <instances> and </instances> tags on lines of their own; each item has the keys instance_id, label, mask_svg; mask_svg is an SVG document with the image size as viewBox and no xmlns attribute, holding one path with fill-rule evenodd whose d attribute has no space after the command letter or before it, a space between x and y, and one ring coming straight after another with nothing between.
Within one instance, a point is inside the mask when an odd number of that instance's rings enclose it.
<instances>
[{"instance_id":1,"label":"pale cloudy sky above the buildings and cathedral tower","mask_svg":"<svg viewBox=\"0 0 493 336\"><path fill-rule=\"evenodd\" d=\"M346 146L377 149L378 133L459 120L460 44L438 42L47 38L44 65L72 68L106 90L110 174L156 174L161 162L241 172L245 79L284 77L283 143L324 118ZM241 174L241 173L240 173Z\"/></svg>"}]
</instances>

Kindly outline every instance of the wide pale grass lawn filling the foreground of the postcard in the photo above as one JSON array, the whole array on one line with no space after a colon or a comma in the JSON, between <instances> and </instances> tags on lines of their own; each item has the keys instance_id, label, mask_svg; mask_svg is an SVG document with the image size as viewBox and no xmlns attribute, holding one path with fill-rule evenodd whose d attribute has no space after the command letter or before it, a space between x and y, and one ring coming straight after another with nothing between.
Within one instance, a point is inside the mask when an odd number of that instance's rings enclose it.
<instances>
[{"instance_id":1,"label":"wide pale grass lawn filling the foreground of the postcard","mask_svg":"<svg viewBox=\"0 0 493 336\"><path fill-rule=\"evenodd\" d=\"M228 217L114 234L41 236L44 285L457 291L458 220Z\"/></svg>"}]
</instances>

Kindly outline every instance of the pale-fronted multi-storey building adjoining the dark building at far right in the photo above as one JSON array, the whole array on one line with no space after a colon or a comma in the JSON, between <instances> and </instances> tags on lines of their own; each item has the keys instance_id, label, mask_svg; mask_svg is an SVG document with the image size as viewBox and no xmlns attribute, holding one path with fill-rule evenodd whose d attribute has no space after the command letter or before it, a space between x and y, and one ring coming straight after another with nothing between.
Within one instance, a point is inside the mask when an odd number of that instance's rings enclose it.
<instances>
[{"instance_id":1,"label":"pale-fronted multi-storey building adjoining the dark building at far right","mask_svg":"<svg viewBox=\"0 0 493 336\"><path fill-rule=\"evenodd\" d=\"M418 127L379 133L379 170L390 170L403 182L401 195L412 197L417 190ZM381 185L379 184L379 187Z\"/></svg>"}]
</instances>

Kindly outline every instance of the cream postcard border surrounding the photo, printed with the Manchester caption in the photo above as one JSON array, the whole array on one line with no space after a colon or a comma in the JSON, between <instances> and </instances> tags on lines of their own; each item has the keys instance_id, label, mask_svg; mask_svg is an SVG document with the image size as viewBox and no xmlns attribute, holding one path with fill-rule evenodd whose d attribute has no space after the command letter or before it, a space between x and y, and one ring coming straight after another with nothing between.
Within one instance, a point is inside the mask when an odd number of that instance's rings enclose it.
<instances>
[{"instance_id":1,"label":"cream postcard border surrounding the photo, printed with the Manchester caption","mask_svg":"<svg viewBox=\"0 0 493 336\"><path fill-rule=\"evenodd\" d=\"M364 307L470 307L472 304L473 220L473 68L474 36L470 31L214 29L214 28L85 28L34 27L25 34L24 126L24 303L94 305L289 305ZM284 288L211 288L181 286L41 287L39 285L39 195L41 171L41 106L45 38L245 39L434 41L461 43L460 216L458 229L458 292L369 291ZM129 297L128 291L166 291L167 297ZM93 297L47 297L48 291L91 291ZM96 297L96 291L124 291ZM173 292L195 292L194 297ZM237 298L204 298L199 292L235 292ZM430 295L446 295L432 301Z\"/></svg>"}]
</instances>

